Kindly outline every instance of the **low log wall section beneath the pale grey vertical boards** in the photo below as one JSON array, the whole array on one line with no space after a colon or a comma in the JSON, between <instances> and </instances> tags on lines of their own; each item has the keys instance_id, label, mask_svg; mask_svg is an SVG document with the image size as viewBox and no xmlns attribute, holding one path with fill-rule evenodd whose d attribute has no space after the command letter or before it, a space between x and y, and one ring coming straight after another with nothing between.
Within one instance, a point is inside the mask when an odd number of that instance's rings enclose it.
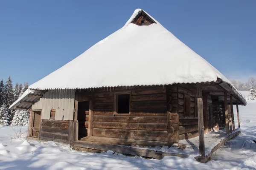
<instances>
[{"instance_id":1,"label":"low log wall section beneath the pale grey vertical boards","mask_svg":"<svg viewBox=\"0 0 256 170\"><path fill-rule=\"evenodd\" d=\"M69 125L67 120L42 120L40 139L69 142Z\"/></svg>"}]
</instances>

